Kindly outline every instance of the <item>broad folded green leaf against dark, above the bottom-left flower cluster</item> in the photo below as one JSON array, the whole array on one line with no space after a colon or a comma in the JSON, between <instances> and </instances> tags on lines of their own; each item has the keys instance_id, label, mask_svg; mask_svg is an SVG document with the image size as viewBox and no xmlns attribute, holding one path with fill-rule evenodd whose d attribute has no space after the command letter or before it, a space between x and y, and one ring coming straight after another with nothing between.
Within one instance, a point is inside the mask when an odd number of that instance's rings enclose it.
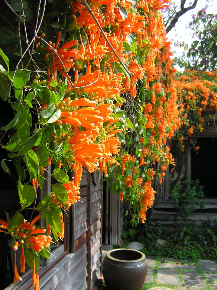
<instances>
[{"instance_id":1,"label":"broad folded green leaf against dark, above the bottom-left flower cluster","mask_svg":"<svg viewBox=\"0 0 217 290\"><path fill-rule=\"evenodd\" d=\"M31 185L27 185L27 183L24 183L24 185L22 185L21 181L18 180L17 188L20 198L20 204L23 205L24 208L31 205L36 195L34 187Z\"/></svg>"}]
</instances>

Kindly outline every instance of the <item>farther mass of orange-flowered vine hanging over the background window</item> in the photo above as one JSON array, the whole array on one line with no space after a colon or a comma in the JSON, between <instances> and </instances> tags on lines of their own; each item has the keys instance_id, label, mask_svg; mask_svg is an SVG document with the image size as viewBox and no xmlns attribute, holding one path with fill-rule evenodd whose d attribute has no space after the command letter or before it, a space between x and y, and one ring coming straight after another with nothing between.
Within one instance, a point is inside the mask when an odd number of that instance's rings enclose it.
<instances>
[{"instance_id":1,"label":"farther mass of orange-flowered vine hanging over the background window","mask_svg":"<svg viewBox=\"0 0 217 290\"><path fill-rule=\"evenodd\" d=\"M214 72L187 70L175 81L180 120L180 134L199 134L204 130L205 119L217 109L217 82Z\"/></svg>"}]
</instances>

